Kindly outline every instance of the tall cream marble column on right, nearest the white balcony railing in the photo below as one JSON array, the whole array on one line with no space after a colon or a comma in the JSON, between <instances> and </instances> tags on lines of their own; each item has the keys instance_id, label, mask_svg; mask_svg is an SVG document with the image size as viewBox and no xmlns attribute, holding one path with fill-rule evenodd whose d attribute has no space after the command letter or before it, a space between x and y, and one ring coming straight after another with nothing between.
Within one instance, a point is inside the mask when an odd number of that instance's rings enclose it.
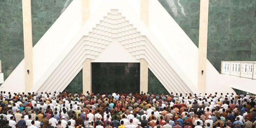
<instances>
[{"instance_id":1,"label":"tall cream marble column on right, nearest the white balcony railing","mask_svg":"<svg viewBox=\"0 0 256 128\"><path fill-rule=\"evenodd\" d=\"M206 55L207 55L207 30L208 30L209 0L200 0L199 16L199 44L198 44L198 89L205 93L206 87ZM202 75L203 72L203 75Z\"/></svg>"}]
</instances>

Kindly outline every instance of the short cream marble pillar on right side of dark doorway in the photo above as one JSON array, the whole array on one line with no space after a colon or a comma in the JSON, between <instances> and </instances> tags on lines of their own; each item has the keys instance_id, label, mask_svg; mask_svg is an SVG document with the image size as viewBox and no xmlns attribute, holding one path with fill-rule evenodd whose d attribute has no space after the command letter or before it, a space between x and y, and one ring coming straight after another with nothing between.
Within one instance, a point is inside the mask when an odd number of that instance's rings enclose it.
<instances>
[{"instance_id":1,"label":"short cream marble pillar on right side of dark doorway","mask_svg":"<svg viewBox=\"0 0 256 128\"><path fill-rule=\"evenodd\" d=\"M139 91L148 92L148 62L145 59L140 59L140 77Z\"/></svg>"}]
</instances>

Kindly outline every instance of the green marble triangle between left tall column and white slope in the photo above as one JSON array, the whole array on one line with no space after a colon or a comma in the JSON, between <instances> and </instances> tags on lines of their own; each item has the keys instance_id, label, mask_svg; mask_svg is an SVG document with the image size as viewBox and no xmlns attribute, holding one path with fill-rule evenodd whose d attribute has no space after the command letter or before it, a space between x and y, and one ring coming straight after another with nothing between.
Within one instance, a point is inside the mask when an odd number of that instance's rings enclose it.
<instances>
[{"instance_id":1,"label":"green marble triangle between left tall column and white slope","mask_svg":"<svg viewBox=\"0 0 256 128\"><path fill-rule=\"evenodd\" d=\"M33 46L72 1L73 0L31 0Z\"/></svg>"}]
</instances>

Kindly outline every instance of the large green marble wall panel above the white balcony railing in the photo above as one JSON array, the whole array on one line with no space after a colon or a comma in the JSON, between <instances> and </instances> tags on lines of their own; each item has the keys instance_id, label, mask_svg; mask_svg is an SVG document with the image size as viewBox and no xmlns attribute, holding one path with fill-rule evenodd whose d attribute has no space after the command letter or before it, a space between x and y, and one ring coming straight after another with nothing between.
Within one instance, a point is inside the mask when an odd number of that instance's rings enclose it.
<instances>
[{"instance_id":1,"label":"large green marble wall panel above the white balcony railing","mask_svg":"<svg viewBox=\"0 0 256 128\"><path fill-rule=\"evenodd\" d=\"M221 72L221 61L256 61L256 0L210 0L207 59Z\"/></svg>"}]
</instances>

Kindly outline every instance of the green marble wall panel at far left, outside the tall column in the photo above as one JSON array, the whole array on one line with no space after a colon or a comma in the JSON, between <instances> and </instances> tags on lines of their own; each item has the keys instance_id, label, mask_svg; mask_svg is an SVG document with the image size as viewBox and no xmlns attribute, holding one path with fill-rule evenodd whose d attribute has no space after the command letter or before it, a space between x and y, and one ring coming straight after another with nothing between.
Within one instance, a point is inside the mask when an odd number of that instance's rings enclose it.
<instances>
[{"instance_id":1,"label":"green marble wall panel at far left, outside the tall column","mask_svg":"<svg viewBox=\"0 0 256 128\"><path fill-rule=\"evenodd\" d=\"M22 1L0 0L0 60L4 79L23 58Z\"/></svg>"}]
</instances>

